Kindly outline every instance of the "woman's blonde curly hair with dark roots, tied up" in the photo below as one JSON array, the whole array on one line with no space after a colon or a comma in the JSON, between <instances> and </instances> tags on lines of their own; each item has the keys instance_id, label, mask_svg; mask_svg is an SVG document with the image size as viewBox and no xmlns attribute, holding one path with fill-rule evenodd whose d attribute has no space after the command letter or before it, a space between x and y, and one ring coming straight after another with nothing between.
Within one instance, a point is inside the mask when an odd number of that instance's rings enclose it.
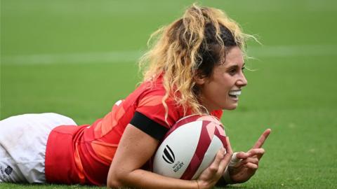
<instances>
[{"instance_id":1,"label":"woman's blonde curly hair with dark roots, tied up","mask_svg":"<svg viewBox=\"0 0 337 189\"><path fill-rule=\"evenodd\" d=\"M237 22L219 9L193 4L182 18L155 31L148 41L150 50L140 58L143 79L154 81L163 76L166 95L162 103L168 114L166 99L192 113L208 113L199 102L195 76L210 77L213 67L224 62L226 52L238 46L245 52L244 34Z\"/></svg>"}]
</instances>

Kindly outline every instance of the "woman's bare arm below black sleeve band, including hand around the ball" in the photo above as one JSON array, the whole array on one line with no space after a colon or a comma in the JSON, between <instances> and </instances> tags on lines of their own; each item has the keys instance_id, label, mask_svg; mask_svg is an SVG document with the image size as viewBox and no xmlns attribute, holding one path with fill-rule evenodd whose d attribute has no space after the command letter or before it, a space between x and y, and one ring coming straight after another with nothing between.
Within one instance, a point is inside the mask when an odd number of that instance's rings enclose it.
<instances>
[{"instance_id":1,"label":"woman's bare arm below black sleeve band, including hand around the ball","mask_svg":"<svg viewBox=\"0 0 337 189\"><path fill-rule=\"evenodd\" d=\"M155 153L158 141L133 125L124 131L107 176L108 188L131 186L136 188L211 188L221 177L230 153L218 153L216 160L198 181L173 179L140 169ZM210 179L211 178L211 179Z\"/></svg>"}]
</instances>

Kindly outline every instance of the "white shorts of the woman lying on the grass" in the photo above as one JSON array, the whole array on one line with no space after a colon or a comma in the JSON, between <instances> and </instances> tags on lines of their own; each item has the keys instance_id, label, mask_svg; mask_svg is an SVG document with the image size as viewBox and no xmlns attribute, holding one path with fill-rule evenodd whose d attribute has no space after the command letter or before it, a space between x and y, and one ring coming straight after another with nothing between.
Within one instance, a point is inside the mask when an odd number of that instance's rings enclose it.
<instances>
[{"instance_id":1,"label":"white shorts of the woman lying on the grass","mask_svg":"<svg viewBox=\"0 0 337 189\"><path fill-rule=\"evenodd\" d=\"M0 121L0 183L44 183L49 133L59 125L76 125L57 113L24 114Z\"/></svg>"}]
</instances>

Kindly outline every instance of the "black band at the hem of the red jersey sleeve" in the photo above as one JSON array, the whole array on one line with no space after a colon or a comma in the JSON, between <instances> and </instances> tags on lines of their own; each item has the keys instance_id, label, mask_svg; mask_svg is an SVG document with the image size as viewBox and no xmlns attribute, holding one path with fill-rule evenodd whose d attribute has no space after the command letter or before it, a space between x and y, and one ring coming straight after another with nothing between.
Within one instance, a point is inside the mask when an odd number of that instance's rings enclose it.
<instances>
[{"instance_id":1,"label":"black band at the hem of the red jersey sleeve","mask_svg":"<svg viewBox=\"0 0 337 189\"><path fill-rule=\"evenodd\" d=\"M151 137L157 139L158 141L161 141L166 132L169 131L168 128L160 125L157 122L154 122L154 120L147 118L143 113L139 113L138 111L136 111L133 115L130 124L142 130L146 134L149 134Z\"/></svg>"}]
</instances>

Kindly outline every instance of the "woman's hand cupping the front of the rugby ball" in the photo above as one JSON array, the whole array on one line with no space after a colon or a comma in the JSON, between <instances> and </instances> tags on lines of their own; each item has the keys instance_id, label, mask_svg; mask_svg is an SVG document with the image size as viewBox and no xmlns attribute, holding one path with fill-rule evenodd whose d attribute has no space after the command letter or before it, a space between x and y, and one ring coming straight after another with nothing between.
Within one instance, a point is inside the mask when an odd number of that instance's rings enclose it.
<instances>
[{"instance_id":1,"label":"woman's hand cupping the front of the rugby ball","mask_svg":"<svg viewBox=\"0 0 337 189\"><path fill-rule=\"evenodd\" d=\"M225 172L225 169L233 155L228 137L226 137L226 144L227 146L225 146L225 148L218 151L212 164L200 174L197 179L199 189L213 188L213 186L215 186L218 180L223 176L223 172Z\"/></svg>"}]
</instances>

